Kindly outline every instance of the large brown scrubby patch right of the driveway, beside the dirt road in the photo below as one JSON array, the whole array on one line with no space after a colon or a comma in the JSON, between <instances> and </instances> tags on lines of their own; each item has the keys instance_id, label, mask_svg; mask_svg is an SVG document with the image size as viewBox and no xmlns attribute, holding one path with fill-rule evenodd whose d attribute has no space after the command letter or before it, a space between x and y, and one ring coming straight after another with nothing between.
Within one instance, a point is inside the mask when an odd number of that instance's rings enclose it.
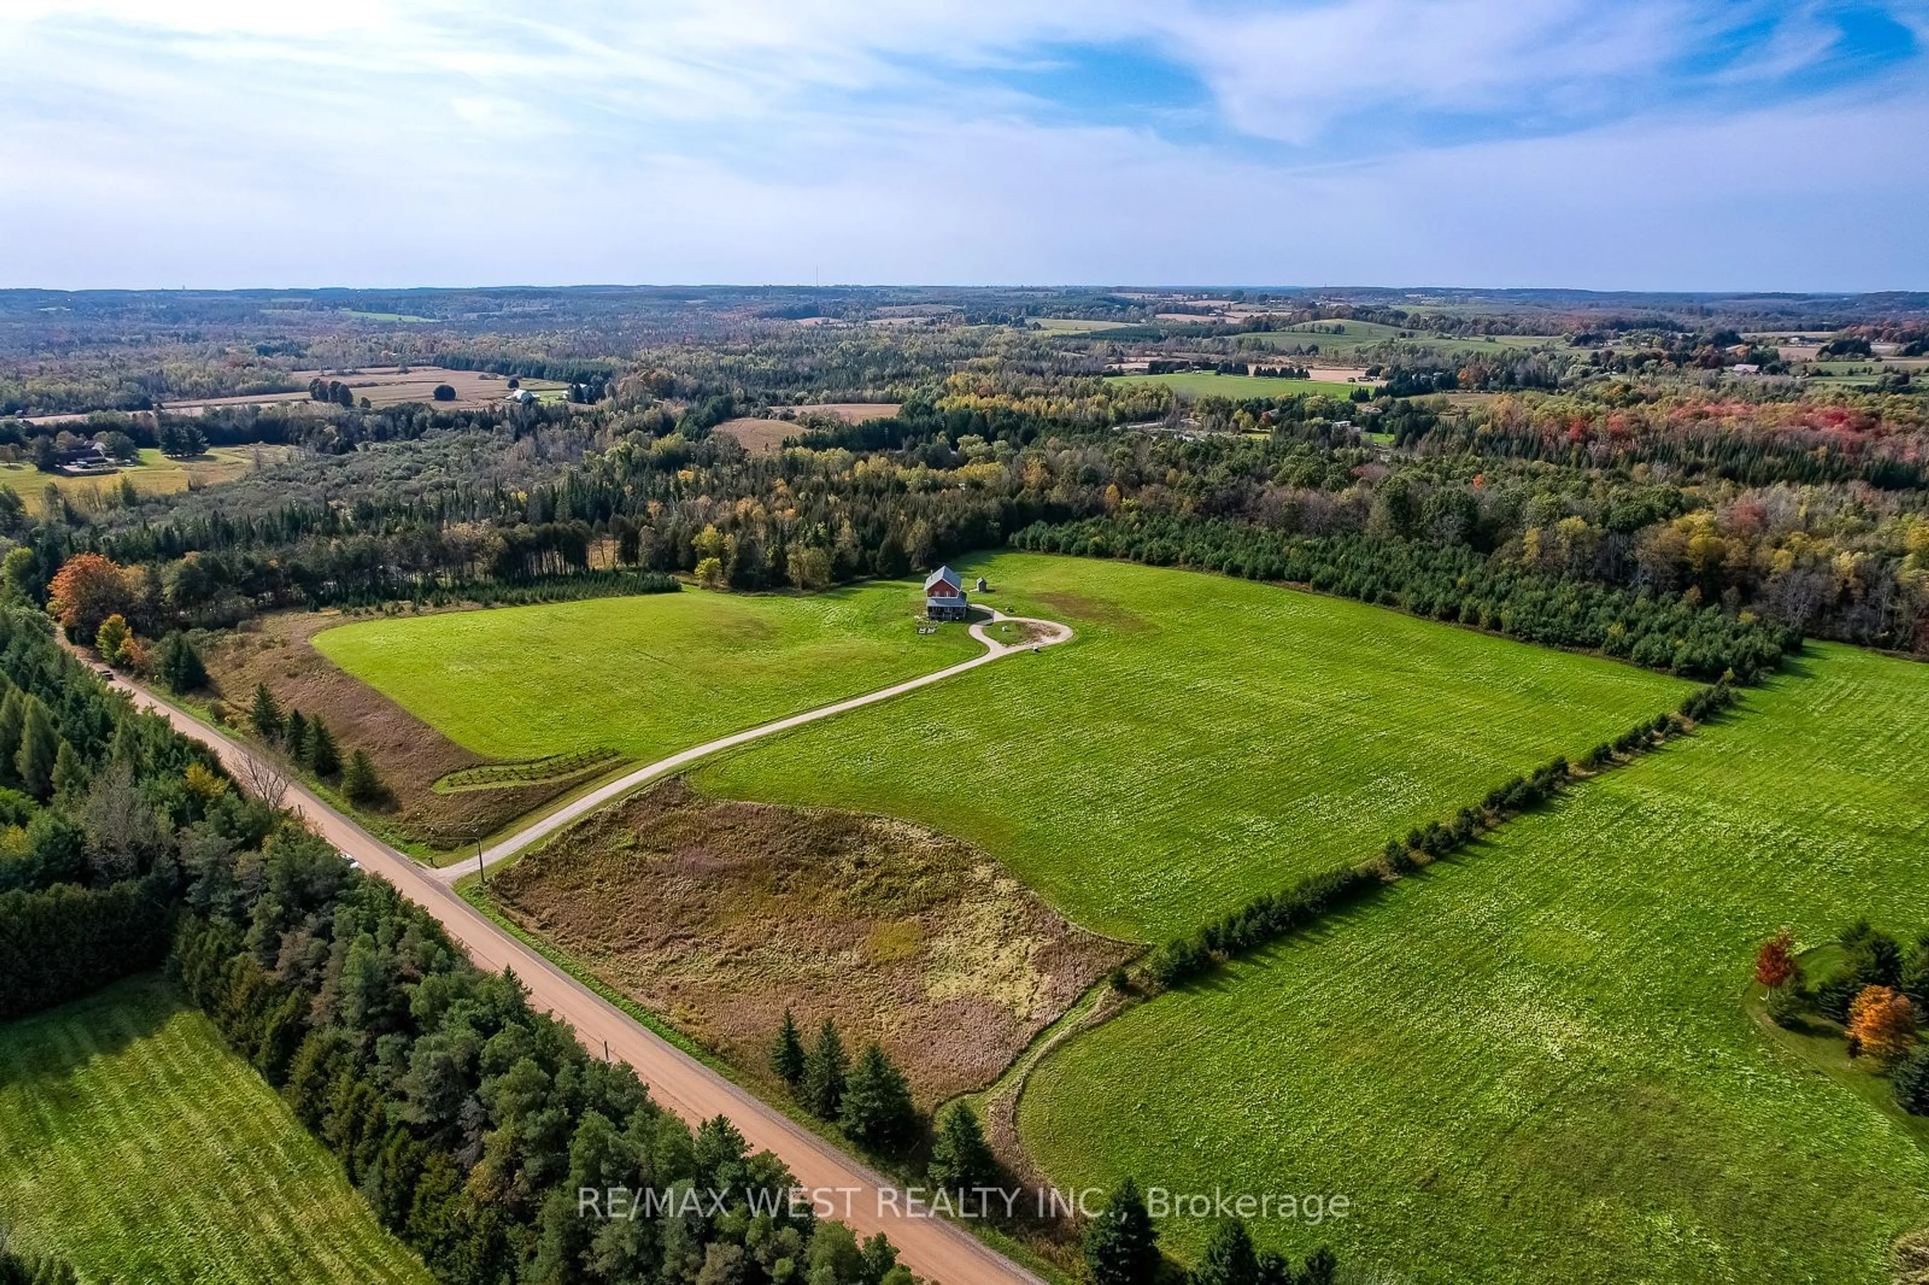
<instances>
[{"instance_id":1,"label":"large brown scrubby patch right of the driveway, beside the dirt road","mask_svg":"<svg viewBox=\"0 0 1929 1285\"><path fill-rule=\"evenodd\" d=\"M725 803L673 779L490 878L505 915L774 1080L797 1013L878 1040L930 1106L992 1082L1132 947L1074 928L992 857L882 816Z\"/></svg>"}]
</instances>

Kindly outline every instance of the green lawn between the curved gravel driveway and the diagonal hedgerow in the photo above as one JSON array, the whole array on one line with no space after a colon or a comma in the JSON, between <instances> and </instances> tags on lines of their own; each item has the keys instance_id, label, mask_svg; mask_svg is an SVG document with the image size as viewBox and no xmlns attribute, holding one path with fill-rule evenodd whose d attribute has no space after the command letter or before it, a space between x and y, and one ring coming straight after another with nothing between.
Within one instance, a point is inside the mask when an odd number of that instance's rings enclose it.
<instances>
[{"instance_id":1,"label":"green lawn between the curved gravel driveway and the diagonal hedgerow","mask_svg":"<svg viewBox=\"0 0 1929 1285\"><path fill-rule=\"evenodd\" d=\"M1362 861L1688 683L1341 598L997 554L980 600L1074 641L745 747L712 793L968 839L1076 922L1159 940Z\"/></svg>"}]
</instances>

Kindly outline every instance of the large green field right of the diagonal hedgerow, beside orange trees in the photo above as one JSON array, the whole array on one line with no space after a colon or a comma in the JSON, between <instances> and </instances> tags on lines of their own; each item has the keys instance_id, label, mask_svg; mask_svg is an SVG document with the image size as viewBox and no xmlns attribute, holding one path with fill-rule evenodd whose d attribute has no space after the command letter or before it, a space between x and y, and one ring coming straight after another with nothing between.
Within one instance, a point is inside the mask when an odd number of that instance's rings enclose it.
<instances>
[{"instance_id":1,"label":"large green field right of the diagonal hedgerow, beside orange trees","mask_svg":"<svg viewBox=\"0 0 1929 1285\"><path fill-rule=\"evenodd\" d=\"M1071 1042L1026 1088L1028 1148L1059 1185L1345 1192L1345 1223L1260 1239L1422 1283L1887 1281L1929 1227L1929 1121L1794 1063L1744 996L1782 924L1929 928L1929 666L1800 668Z\"/></svg>"}]
</instances>

